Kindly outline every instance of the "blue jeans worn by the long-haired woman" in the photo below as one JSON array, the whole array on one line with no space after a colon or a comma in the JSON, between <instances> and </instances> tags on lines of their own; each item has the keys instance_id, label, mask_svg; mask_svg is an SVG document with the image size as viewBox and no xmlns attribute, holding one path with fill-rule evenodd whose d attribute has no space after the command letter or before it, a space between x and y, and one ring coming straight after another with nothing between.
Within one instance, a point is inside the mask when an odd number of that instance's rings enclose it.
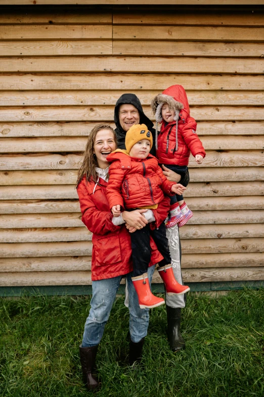
<instances>
[{"instance_id":1,"label":"blue jeans worn by the long-haired woman","mask_svg":"<svg viewBox=\"0 0 264 397\"><path fill-rule=\"evenodd\" d=\"M148 268L150 283L154 270L155 266ZM138 343L147 335L149 309L141 309L139 307L138 295L131 277L132 272L126 275L129 298L129 332L131 340ZM117 276L104 280L92 281L93 297L91 299L89 316L86 318L84 326L82 347L92 347L100 343L121 279L122 276Z\"/></svg>"}]
</instances>

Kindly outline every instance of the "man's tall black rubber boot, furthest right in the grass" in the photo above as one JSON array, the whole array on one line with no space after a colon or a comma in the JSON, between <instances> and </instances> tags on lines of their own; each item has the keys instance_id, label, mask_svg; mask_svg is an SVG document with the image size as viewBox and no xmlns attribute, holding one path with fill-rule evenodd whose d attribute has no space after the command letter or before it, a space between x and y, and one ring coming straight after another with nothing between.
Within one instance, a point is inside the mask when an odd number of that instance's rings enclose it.
<instances>
[{"instance_id":1,"label":"man's tall black rubber boot, furthest right in the grass","mask_svg":"<svg viewBox=\"0 0 264 397\"><path fill-rule=\"evenodd\" d=\"M168 321L168 340L173 352L185 349L185 341L181 335L181 308L173 308L166 305Z\"/></svg>"}]
</instances>

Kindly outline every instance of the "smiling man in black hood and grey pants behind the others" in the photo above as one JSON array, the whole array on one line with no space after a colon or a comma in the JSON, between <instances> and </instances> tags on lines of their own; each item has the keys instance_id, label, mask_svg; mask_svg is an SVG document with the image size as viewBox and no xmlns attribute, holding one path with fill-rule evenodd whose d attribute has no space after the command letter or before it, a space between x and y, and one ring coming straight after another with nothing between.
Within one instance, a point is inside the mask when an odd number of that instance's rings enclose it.
<instances>
[{"instance_id":1,"label":"smiling man in black hood and grey pants behind the others","mask_svg":"<svg viewBox=\"0 0 264 397\"><path fill-rule=\"evenodd\" d=\"M146 124L152 133L153 141L155 141L156 130L153 128L152 121L144 114L141 102L135 94L123 94L120 96L115 105L114 121L116 125L115 133L118 141L118 149L125 149L125 134L134 124ZM156 155L154 146L152 147L150 153L153 156ZM181 183L184 186L188 185L188 171L184 176L181 177L181 175L169 170L164 165L162 165L162 169L163 174L169 181ZM144 218L143 215L142 218ZM181 272L181 241L179 237L178 225L167 229L166 234L169 242L171 263L175 279L180 284L183 284ZM180 331L181 311L182 308L185 307L185 300L186 295L166 295L168 339L170 348L173 352L177 352L185 348L185 341Z\"/></svg>"}]
</instances>

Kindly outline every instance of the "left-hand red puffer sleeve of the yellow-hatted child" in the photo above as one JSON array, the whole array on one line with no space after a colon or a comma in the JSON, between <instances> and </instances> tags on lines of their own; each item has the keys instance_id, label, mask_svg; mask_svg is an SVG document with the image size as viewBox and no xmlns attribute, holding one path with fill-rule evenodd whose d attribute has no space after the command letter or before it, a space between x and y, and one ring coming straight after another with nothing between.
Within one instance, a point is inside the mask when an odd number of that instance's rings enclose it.
<instances>
[{"instance_id":1,"label":"left-hand red puffer sleeve of the yellow-hatted child","mask_svg":"<svg viewBox=\"0 0 264 397\"><path fill-rule=\"evenodd\" d=\"M106 188L106 197L110 209L114 205L120 205L124 208L124 201L121 196L121 185L124 179L124 170L119 166L119 162L114 162L109 167L109 180Z\"/></svg>"}]
</instances>

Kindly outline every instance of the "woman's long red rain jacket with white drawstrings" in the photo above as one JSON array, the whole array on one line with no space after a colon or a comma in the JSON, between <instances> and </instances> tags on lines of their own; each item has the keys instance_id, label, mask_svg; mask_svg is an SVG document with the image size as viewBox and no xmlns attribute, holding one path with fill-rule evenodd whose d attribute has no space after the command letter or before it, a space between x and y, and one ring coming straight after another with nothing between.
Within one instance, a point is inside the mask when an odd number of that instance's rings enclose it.
<instances>
[{"instance_id":1,"label":"woman's long red rain jacket with white drawstrings","mask_svg":"<svg viewBox=\"0 0 264 397\"><path fill-rule=\"evenodd\" d=\"M131 260L131 240L125 225L114 226L106 198L107 183L99 179L101 186L95 183L86 184L83 177L78 185L82 222L93 233L92 280L117 277L133 270ZM158 263L163 257L151 239L151 265Z\"/></svg>"}]
</instances>

